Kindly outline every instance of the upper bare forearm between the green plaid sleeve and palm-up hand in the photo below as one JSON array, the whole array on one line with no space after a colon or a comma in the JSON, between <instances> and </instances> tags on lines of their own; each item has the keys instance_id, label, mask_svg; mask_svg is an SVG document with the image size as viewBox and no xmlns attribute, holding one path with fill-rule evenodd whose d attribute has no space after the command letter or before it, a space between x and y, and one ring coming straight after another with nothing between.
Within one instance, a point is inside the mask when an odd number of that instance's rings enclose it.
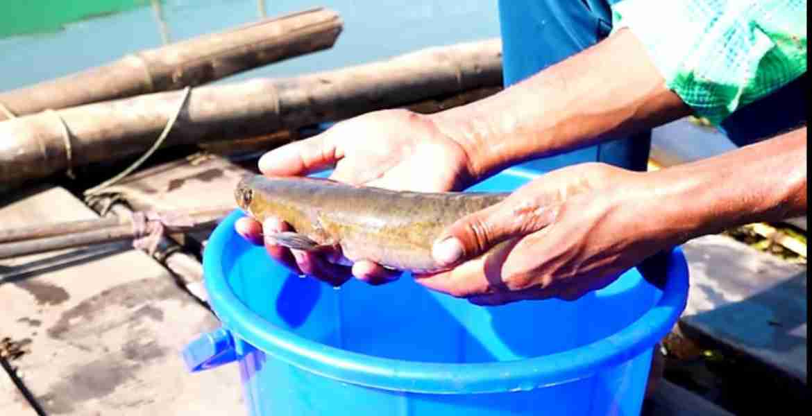
<instances>
[{"instance_id":1,"label":"upper bare forearm between the green plaid sleeve and palm-up hand","mask_svg":"<svg viewBox=\"0 0 812 416\"><path fill-rule=\"evenodd\" d=\"M433 117L482 178L689 114L637 38L621 30L503 92Z\"/></svg>"}]
</instances>

